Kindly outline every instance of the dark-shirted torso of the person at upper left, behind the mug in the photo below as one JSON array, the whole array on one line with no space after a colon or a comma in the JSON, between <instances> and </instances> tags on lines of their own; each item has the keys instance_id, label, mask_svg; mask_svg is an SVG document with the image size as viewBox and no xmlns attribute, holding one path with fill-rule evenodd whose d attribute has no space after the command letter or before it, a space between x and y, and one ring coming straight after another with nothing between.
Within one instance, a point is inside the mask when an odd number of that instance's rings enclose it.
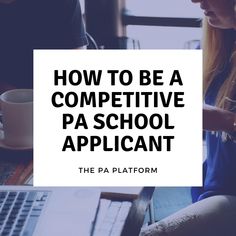
<instances>
[{"instance_id":1,"label":"dark-shirted torso of the person at upper left, behind the mug","mask_svg":"<svg viewBox=\"0 0 236 236\"><path fill-rule=\"evenodd\" d=\"M16 0L0 4L0 83L32 87L33 49L69 48L64 2Z\"/></svg>"}]
</instances>

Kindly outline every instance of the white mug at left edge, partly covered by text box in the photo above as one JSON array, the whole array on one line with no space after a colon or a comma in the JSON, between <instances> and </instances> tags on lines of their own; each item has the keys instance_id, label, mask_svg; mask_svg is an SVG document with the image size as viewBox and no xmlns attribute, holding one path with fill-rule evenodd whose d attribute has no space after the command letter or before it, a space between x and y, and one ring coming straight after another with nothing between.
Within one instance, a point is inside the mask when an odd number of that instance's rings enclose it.
<instances>
[{"instance_id":1,"label":"white mug at left edge, partly covered by text box","mask_svg":"<svg viewBox=\"0 0 236 236\"><path fill-rule=\"evenodd\" d=\"M1 94L3 140L11 147L33 147L33 89L14 89Z\"/></svg>"}]
</instances>

